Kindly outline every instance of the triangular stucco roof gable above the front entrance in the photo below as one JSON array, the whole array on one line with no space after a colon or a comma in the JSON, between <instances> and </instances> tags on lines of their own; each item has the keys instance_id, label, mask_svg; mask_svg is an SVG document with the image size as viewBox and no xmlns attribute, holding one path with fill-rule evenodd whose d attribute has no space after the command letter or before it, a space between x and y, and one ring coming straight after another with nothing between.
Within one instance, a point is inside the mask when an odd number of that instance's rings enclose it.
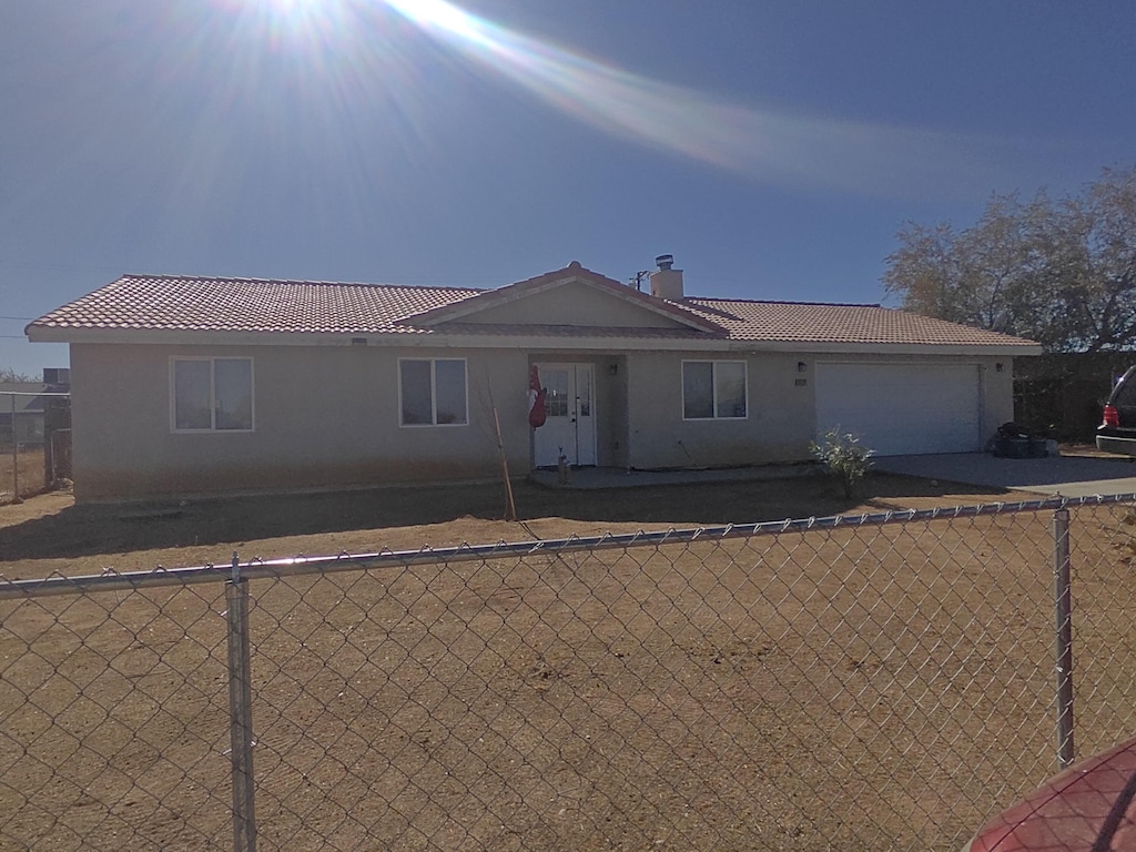
<instances>
[{"instance_id":1,"label":"triangular stucco roof gable above the front entrance","mask_svg":"<svg viewBox=\"0 0 1136 852\"><path fill-rule=\"evenodd\" d=\"M461 302L401 320L445 331L448 325L573 326L575 328L684 329L721 334L710 317L645 295L574 260L563 269L483 291Z\"/></svg>"}]
</instances>

